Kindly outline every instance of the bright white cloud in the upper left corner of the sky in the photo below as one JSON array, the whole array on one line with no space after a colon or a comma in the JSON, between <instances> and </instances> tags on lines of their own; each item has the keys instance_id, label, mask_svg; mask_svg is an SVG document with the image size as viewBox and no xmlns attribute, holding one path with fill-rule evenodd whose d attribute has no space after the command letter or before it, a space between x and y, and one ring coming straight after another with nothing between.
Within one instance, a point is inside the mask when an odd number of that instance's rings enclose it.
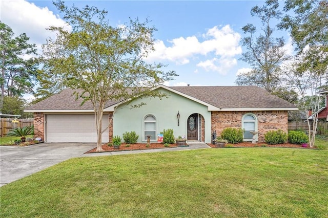
<instances>
[{"instance_id":1,"label":"bright white cloud in the upper left corner of the sky","mask_svg":"<svg viewBox=\"0 0 328 218\"><path fill-rule=\"evenodd\" d=\"M50 26L70 27L59 15L54 14L47 7L40 8L25 0L0 1L1 21L11 27L15 36L26 33L30 43L35 43L39 52L46 38L55 34L46 28Z\"/></svg>"}]
</instances>

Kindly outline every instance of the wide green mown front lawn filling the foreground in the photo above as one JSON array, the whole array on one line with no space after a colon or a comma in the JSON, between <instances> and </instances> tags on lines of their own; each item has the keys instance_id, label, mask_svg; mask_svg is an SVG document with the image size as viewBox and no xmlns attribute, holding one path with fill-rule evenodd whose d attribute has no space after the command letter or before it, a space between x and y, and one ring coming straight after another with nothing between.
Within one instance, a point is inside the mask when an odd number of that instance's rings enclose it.
<instances>
[{"instance_id":1,"label":"wide green mown front lawn filling the foreground","mask_svg":"<svg viewBox=\"0 0 328 218\"><path fill-rule=\"evenodd\" d=\"M76 158L0 188L2 217L327 217L328 150Z\"/></svg>"}]
</instances>

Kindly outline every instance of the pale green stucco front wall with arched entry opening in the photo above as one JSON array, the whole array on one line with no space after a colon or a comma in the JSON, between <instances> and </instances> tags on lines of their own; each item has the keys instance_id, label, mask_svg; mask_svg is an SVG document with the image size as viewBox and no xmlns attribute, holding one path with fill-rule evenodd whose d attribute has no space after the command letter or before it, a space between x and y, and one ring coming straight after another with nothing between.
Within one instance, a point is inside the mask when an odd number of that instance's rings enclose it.
<instances>
[{"instance_id":1,"label":"pale green stucco front wall with arched entry opening","mask_svg":"<svg viewBox=\"0 0 328 218\"><path fill-rule=\"evenodd\" d=\"M129 105L120 105L114 115L113 135L122 137L123 133L135 131L139 135L138 142L144 140L144 119L147 115L156 118L156 135L163 129L172 128L174 136L187 136L187 120L191 114L200 114L205 119L205 142L211 142L211 112L208 106L186 97L160 89L168 94L168 98L143 98L131 104L146 103L139 108L130 109ZM180 125L177 124L177 113L180 114Z\"/></svg>"}]
</instances>

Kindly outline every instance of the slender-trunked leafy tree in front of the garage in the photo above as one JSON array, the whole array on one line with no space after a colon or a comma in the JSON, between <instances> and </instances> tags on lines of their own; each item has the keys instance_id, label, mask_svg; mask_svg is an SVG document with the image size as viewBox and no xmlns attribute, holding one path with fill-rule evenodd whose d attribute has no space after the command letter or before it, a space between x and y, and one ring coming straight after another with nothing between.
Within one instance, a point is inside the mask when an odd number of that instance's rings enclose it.
<instances>
[{"instance_id":1,"label":"slender-trunked leafy tree in front of the garage","mask_svg":"<svg viewBox=\"0 0 328 218\"><path fill-rule=\"evenodd\" d=\"M133 101L145 97L163 97L151 92L157 84L173 79L174 72L163 72L163 65L144 61L153 50L154 27L138 19L113 27L106 20L107 11L85 6L68 8L63 1L54 2L65 14L72 30L50 27L56 39L44 45L44 71L53 82L74 89L76 98L91 101L97 130L97 151L101 151L101 118L107 102ZM139 105L131 105L138 107ZM115 107L116 108L116 107ZM116 110L116 109L115 109ZM115 113L115 111L114 111ZM112 120L110 121L110 123Z\"/></svg>"}]
</instances>

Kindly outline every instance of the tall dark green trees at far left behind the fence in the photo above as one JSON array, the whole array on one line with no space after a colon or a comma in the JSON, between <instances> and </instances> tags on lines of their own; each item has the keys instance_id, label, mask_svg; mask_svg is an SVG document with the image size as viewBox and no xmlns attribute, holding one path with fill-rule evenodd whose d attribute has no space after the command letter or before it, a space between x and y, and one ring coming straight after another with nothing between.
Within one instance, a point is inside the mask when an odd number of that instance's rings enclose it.
<instances>
[{"instance_id":1,"label":"tall dark green trees at far left behind the fence","mask_svg":"<svg viewBox=\"0 0 328 218\"><path fill-rule=\"evenodd\" d=\"M3 109L4 96L23 96L33 93L34 79L37 74L35 45L28 43L25 33L14 37L12 29L0 21L0 111Z\"/></svg>"}]
</instances>

